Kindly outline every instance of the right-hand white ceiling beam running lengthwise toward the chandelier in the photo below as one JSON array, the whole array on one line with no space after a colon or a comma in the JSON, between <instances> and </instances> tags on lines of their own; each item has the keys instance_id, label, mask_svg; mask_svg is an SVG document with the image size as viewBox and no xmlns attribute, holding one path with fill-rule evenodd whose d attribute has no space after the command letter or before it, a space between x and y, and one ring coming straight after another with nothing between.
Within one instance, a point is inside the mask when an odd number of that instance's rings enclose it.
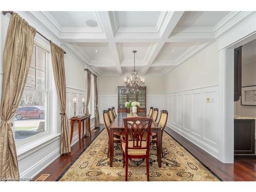
<instances>
[{"instance_id":1,"label":"right-hand white ceiling beam running lengthwise toward the chandelier","mask_svg":"<svg viewBox=\"0 0 256 192\"><path fill-rule=\"evenodd\" d=\"M183 15L184 11L174 11L174 12L168 12L166 15L166 18L163 23L163 27L160 31L160 42L156 43L152 51L150 53L149 59L146 62L146 66L141 71L142 75L145 75L147 70L150 68L152 63L154 62L155 58L157 57L158 53L161 51L165 41L168 39L172 31L174 30L175 26L179 22L181 16Z\"/></svg>"}]
</instances>

